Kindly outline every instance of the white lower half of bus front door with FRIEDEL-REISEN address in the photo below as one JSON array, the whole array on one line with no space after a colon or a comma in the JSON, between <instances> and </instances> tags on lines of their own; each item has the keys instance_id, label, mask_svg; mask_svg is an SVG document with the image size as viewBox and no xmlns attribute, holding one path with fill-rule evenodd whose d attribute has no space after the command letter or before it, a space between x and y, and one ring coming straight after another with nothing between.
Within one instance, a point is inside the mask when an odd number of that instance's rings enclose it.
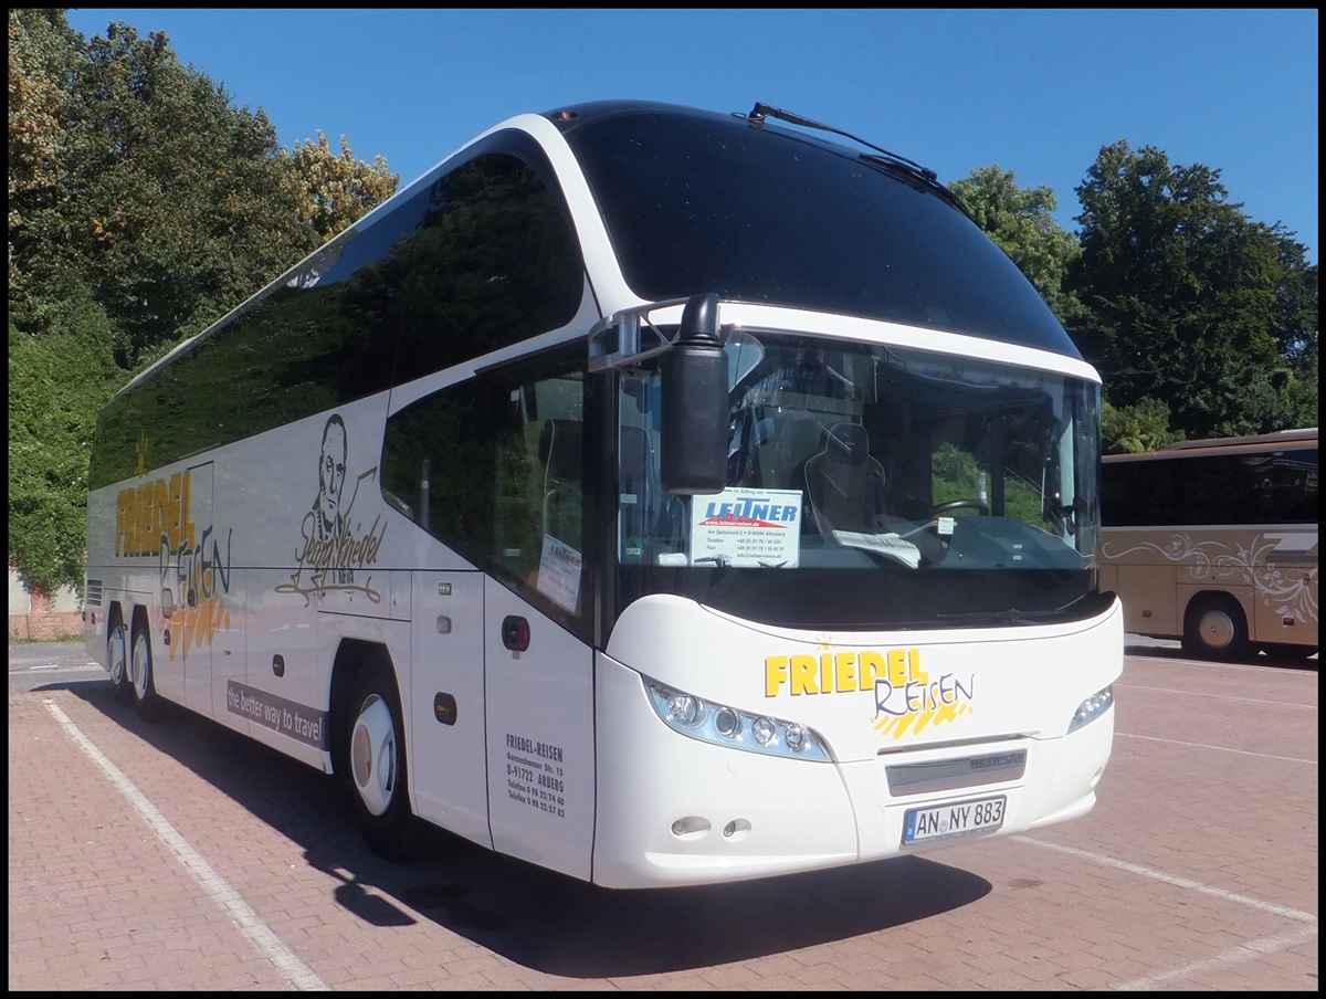
<instances>
[{"instance_id":1,"label":"white lower half of bus front door with FRIEDEL-REISEN address","mask_svg":"<svg viewBox=\"0 0 1326 999\"><path fill-rule=\"evenodd\" d=\"M542 572L569 576L565 556ZM557 563L556 566L553 563ZM590 878L594 834L593 651L488 580L484 674L493 848Z\"/></svg>"}]
</instances>

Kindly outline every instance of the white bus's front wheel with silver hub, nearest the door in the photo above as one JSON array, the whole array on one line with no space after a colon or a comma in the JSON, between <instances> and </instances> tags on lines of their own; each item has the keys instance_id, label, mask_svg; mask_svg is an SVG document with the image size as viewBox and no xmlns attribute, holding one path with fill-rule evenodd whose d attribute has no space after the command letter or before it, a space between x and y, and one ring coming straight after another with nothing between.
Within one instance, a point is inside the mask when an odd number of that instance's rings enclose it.
<instances>
[{"instance_id":1,"label":"white bus's front wheel with silver hub, nearest the door","mask_svg":"<svg viewBox=\"0 0 1326 999\"><path fill-rule=\"evenodd\" d=\"M386 651L369 653L354 678L346 726L350 797L369 848L386 860L414 849L400 695Z\"/></svg>"}]
</instances>

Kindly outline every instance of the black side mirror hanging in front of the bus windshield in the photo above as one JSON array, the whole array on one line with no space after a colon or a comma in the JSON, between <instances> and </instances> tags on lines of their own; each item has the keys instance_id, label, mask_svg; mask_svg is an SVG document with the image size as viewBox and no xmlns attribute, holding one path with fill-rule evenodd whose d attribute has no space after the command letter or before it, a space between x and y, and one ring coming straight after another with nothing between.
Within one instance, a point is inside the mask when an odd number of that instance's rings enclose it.
<instances>
[{"instance_id":1,"label":"black side mirror hanging in front of the bus windshield","mask_svg":"<svg viewBox=\"0 0 1326 999\"><path fill-rule=\"evenodd\" d=\"M668 492L720 492L728 484L728 358L719 340L719 296L696 295L663 354L660 479Z\"/></svg>"}]
</instances>

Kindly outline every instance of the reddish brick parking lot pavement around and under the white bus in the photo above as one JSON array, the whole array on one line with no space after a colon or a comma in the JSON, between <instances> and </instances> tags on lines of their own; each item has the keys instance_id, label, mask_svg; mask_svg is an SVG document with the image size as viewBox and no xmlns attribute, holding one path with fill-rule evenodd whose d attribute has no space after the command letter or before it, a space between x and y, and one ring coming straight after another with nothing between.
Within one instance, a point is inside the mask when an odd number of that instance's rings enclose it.
<instances>
[{"instance_id":1,"label":"reddish brick parking lot pavement around and under the white bus","mask_svg":"<svg viewBox=\"0 0 1326 999\"><path fill-rule=\"evenodd\" d=\"M9 987L1317 991L1315 670L1130 657L1118 732L1101 804L1075 823L605 893L448 837L385 864L329 777L184 712L147 726L103 682L11 695Z\"/></svg>"}]
</instances>

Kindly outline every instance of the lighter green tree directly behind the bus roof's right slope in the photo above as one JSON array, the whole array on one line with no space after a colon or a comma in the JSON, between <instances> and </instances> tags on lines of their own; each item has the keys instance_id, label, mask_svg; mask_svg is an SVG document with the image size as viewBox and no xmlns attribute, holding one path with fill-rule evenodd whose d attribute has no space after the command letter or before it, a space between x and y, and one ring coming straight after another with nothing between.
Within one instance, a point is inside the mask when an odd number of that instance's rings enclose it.
<instances>
[{"instance_id":1,"label":"lighter green tree directly behind the bus roof's right slope","mask_svg":"<svg viewBox=\"0 0 1326 999\"><path fill-rule=\"evenodd\" d=\"M980 167L949 190L976 224L1008 253L1059 322L1081 318L1082 306L1063 288L1069 265L1081 255L1077 236L1054 220L1059 207L1049 187L1018 187L1012 170Z\"/></svg>"}]
</instances>

